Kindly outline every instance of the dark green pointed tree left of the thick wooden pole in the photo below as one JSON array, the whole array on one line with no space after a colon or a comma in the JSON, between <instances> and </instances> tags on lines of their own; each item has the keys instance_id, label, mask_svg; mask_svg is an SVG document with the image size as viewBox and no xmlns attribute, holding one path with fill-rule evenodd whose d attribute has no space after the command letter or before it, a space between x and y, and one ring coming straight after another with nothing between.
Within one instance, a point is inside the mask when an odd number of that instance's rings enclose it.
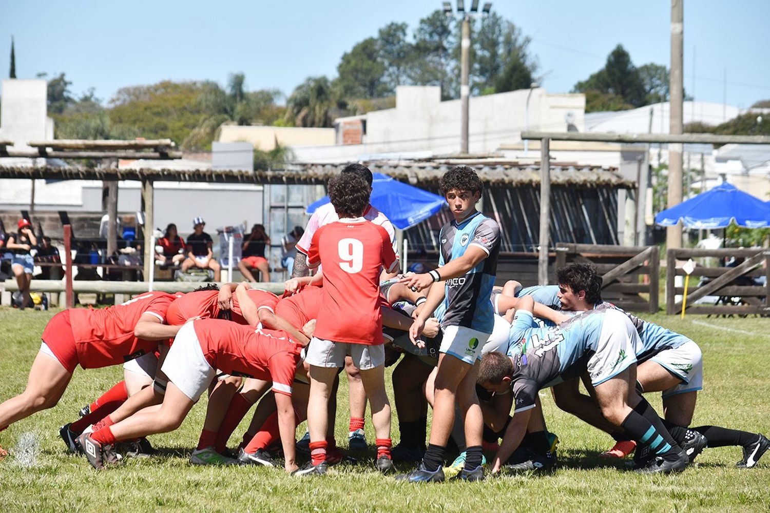
<instances>
[{"instance_id":1,"label":"dark green pointed tree left of the thick wooden pole","mask_svg":"<svg viewBox=\"0 0 770 513\"><path fill-rule=\"evenodd\" d=\"M574 85L573 91L594 91L604 95L611 95L604 97L610 101L607 105L601 103L591 105L591 108L598 108L598 110L603 110L605 106L617 104L619 100L631 105L632 108L641 107L646 105L647 99L644 82L642 82L639 71L634 67L634 63L631 62L631 55L628 55L628 52L625 51L622 45L616 46L610 52L604 68L595 72L587 80L577 82ZM588 102L586 112L591 112Z\"/></svg>"}]
</instances>

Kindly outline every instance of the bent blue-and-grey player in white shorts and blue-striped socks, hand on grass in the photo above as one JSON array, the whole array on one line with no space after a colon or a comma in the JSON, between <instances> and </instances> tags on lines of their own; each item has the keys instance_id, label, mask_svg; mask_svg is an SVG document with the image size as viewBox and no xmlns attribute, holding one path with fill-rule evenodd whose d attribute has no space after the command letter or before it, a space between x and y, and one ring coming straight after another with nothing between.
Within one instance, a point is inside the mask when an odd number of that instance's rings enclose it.
<instances>
[{"instance_id":1,"label":"bent blue-and-grey player in white shorts and blue-striped socks, hand on grass","mask_svg":"<svg viewBox=\"0 0 770 513\"><path fill-rule=\"evenodd\" d=\"M492 471L500 471L524 437L537 391L586 370L604 418L654 451L654 461L639 471L683 470L687 454L634 389L638 334L628 317L616 310L592 310L547 330L531 327L533 305L531 297L521 298L514 315L521 345L511 346L507 355L489 353L481 361L479 384L496 395L508 395L506 404L515 407Z\"/></svg>"}]
</instances>

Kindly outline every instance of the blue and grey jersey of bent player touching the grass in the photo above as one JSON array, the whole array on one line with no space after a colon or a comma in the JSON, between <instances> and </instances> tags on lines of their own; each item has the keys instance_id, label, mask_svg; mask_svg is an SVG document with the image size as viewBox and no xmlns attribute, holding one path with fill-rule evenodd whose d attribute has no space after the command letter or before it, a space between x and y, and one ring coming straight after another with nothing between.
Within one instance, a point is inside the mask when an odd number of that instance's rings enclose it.
<instances>
[{"instance_id":1,"label":"blue and grey jersey of bent player touching the grass","mask_svg":"<svg viewBox=\"0 0 770 513\"><path fill-rule=\"evenodd\" d=\"M534 408L537 391L583 374L596 352L603 311L590 310L554 328L533 328L532 313L517 311L508 356L514 362L511 389L515 411Z\"/></svg>"}]
</instances>

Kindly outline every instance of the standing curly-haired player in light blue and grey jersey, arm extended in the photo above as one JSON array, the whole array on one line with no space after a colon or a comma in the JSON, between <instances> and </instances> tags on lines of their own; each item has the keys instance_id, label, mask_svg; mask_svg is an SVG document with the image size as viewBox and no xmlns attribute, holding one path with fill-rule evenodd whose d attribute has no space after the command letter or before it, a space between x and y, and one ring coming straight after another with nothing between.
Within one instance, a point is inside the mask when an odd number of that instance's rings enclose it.
<instances>
[{"instance_id":1,"label":"standing curly-haired player in light blue and grey jersey, arm extended","mask_svg":"<svg viewBox=\"0 0 770 513\"><path fill-rule=\"evenodd\" d=\"M442 465L454 423L455 405L464 418L467 455L459 477L467 481L484 478L481 434L484 420L476 395L476 376L481 349L494 328L489 300L500 252L500 226L476 210L483 183L473 169L458 166L441 177L440 190L454 219L440 232L439 268L430 273L409 275L404 285L423 290L430 287L427 302L410 329L418 343L422 323L441 301L446 304L434 392L434 416L430 442L420 466L408 475L410 482L444 481Z\"/></svg>"}]
</instances>

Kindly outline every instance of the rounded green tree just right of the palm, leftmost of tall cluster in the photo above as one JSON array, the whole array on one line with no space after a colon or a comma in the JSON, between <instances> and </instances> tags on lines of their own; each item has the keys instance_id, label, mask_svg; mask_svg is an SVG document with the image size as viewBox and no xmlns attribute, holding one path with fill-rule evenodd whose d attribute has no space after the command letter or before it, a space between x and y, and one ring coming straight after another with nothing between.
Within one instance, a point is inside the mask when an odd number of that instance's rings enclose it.
<instances>
[{"instance_id":1,"label":"rounded green tree just right of the palm, leftmost of tall cluster","mask_svg":"<svg viewBox=\"0 0 770 513\"><path fill-rule=\"evenodd\" d=\"M385 72L377 39L366 38L343 54L336 84L348 98L379 98L387 92Z\"/></svg>"}]
</instances>

